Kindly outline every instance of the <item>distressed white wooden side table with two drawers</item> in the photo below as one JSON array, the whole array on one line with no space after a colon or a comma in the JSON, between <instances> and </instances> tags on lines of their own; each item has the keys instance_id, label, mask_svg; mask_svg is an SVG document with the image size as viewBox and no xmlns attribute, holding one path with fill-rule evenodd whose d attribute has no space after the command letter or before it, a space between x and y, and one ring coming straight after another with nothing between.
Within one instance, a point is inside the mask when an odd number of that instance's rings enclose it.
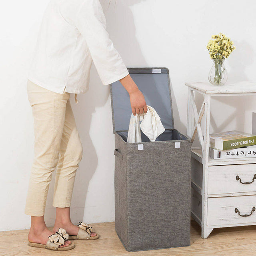
<instances>
[{"instance_id":1,"label":"distressed white wooden side table with two drawers","mask_svg":"<svg viewBox=\"0 0 256 256\"><path fill-rule=\"evenodd\" d=\"M198 134L201 145L192 147L191 216L201 226L202 238L207 238L214 228L256 225L256 158L209 157L211 98L256 95L256 82L223 86L186 82L185 85L188 86L187 135L193 143ZM204 96L199 113L195 93Z\"/></svg>"}]
</instances>

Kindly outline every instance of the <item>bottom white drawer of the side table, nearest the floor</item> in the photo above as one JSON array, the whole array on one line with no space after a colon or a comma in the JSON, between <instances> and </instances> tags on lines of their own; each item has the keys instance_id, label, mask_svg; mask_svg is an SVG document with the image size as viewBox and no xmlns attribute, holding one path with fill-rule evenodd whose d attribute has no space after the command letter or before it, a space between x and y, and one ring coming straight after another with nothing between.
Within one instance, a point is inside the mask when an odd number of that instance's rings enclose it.
<instances>
[{"instance_id":1,"label":"bottom white drawer of the side table, nearest the floor","mask_svg":"<svg viewBox=\"0 0 256 256\"><path fill-rule=\"evenodd\" d=\"M207 225L250 224L256 222L256 196L208 198Z\"/></svg>"}]
</instances>

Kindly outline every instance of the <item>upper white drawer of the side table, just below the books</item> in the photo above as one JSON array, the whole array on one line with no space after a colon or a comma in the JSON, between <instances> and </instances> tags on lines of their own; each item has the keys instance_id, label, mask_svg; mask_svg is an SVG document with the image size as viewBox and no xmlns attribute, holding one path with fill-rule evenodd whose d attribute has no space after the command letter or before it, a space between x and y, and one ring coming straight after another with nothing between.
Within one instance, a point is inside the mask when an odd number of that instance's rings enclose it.
<instances>
[{"instance_id":1,"label":"upper white drawer of the side table, just below the books","mask_svg":"<svg viewBox=\"0 0 256 256\"><path fill-rule=\"evenodd\" d=\"M208 194L256 191L256 164L208 167Z\"/></svg>"}]
</instances>

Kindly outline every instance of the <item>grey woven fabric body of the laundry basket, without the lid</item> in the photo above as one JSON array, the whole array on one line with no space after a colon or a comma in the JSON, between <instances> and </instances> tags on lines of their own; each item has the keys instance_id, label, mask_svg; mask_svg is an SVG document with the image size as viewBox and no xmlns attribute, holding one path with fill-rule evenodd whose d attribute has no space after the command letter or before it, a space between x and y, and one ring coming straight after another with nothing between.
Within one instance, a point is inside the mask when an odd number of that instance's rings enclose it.
<instances>
[{"instance_id":1,"label":"grey woven fabric body of the laundry basket, without the lid","mask_svg":"<svg viewBox=\"0 0 256 256\"><path fill-rule=\"evenodd\" d=\"M128 251L189 246L190 141L138 144L115 134L116 232Z\"/></svg>"}]
</instances>

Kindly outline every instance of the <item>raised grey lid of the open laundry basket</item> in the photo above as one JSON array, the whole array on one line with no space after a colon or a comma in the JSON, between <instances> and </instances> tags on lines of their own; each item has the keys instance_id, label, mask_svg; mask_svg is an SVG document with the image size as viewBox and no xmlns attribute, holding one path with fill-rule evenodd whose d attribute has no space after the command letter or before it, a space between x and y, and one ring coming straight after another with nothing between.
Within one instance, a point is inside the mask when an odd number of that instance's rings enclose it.
<instances>
[{"instance_id":1,"label":"raised grey lid of the open laundry basket","mask_svg":"<svg viewBox=\"0 0 256 256\"><path fill-rule=\"evenodd\" d=\"M152 106L165 129L174 128L168 68L128 68L129 74ZM110 84L113 132L127 131L132 114L130 97L119 81Z\"/></svg>"}]
</instances>

